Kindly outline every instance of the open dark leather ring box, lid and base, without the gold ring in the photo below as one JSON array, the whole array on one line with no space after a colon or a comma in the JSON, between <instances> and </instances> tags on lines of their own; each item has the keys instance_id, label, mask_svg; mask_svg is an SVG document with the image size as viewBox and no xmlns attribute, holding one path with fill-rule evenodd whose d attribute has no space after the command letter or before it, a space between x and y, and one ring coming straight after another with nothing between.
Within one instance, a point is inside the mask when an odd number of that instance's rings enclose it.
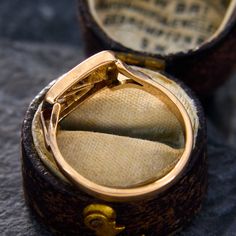
<instances>
[{"instance_id":1,"label":"open dark leather ring box, lid and base, without the gold ring","mask_svg":"<svg viewBox=\"0 0 236 236\"><path fill-rule=\"evenodd\" d=\"M87 51L112 49L133 69L168 88L188 112L194 145L181 178L161 193L128 201L88 194L68 181L45 147L39 109L49 85L32 101L24 120L22 170L27 202L54 233L168 235L183 228L198 212L207 187L205 119L198 99L181 81L198 94L206 94L232 69L235 58L232 2L79 2ZM202 15L195 17L203 8L209 13L204 14L205 20ZM192 15L186 15L186 9ZM164 35L175 33L175 27L165 28L150 20L163 15L170 17L167 22L186 21L186 28L178 31L176 47L173 39L164 40L159 33L153 34L159 28ZM192 26L187 27L188 19L197 26L205 22L206 26L201 25L203 28L195 32ZM143 23L135 26L138 20ZM190 42L186 39L188 35ZM151 44L155 44L154 48ZM221 60L226 58L229 63L222 65ZM217 63L222 67L217 67ZM159 73L165 78L158 76ZM125 189L165 176L178 162L184 139L178 119L161 100L136 89L113 92L106 89L61 121L57 142L64 158L78 173L94 183ZM100 214L106 222L99 225L95 221L94 228L88 227L86 219L91 213Z\"/></svg>"}]
</instances>

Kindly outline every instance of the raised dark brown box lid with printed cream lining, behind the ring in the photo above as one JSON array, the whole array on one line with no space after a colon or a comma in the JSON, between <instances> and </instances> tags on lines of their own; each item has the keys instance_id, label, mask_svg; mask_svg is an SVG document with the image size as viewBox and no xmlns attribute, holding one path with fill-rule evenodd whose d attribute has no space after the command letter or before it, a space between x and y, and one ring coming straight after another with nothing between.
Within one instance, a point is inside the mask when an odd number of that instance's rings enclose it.
<instances>
[{"instance_id":1,"label":"raised dark brown box lid with printed cream lining, behind the ring","mask_svg":"<svg viewBox=\"0 0 236 236\"><path fill-rule=\"evenodd\" d=\"M235 67L235 1L78 2L88 54L112 49L143 67L159 61L161 68L152 69L167 71L199 95L214 91Z\"/></svg>"}]
</instances>

